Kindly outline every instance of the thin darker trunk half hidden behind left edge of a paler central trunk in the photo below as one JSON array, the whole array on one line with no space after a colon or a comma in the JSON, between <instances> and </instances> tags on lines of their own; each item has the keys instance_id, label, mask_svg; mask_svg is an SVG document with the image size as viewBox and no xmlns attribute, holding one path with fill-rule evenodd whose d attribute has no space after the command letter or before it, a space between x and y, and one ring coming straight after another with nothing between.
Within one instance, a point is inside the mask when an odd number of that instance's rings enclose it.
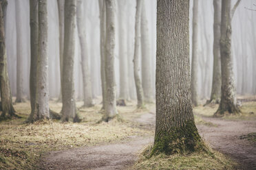
<instances>
[{"instance_id":1,"label":"thin darker trunk half hidden behind left edge of a paler central trunk","mask_svg":"<svg viewBox=\"0 0 256 170\"><path fill-rule=\"evenodd\" d=\"M105 109L105 96L107 95L105 78L106 5L103 0L98 0L98 4L100 8L100 79L103 95L103 109Z\"/></svg>"}]
</instances>

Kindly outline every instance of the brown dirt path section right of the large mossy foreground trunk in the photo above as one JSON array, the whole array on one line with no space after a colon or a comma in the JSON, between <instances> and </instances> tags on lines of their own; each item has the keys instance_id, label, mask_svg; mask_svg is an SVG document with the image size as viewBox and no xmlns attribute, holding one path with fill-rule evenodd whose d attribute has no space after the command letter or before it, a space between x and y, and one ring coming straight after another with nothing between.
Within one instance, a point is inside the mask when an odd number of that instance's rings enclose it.
<instances>
[{"instance_id":1,"label":"brown dirt path section right of the large mossy foreground trunk","mask_svg":"<svg viewBox=\"0 0 256 170\"><path fill-rule=\"evenodd\" d=\"M240 136L256 132L256 121L228 121L212 117L202 117L217 125L209 127L197 125L200 135L211 147L227 154L242 164L243 169L256 169L256 145Z\"/></svg>"}]
</instances>

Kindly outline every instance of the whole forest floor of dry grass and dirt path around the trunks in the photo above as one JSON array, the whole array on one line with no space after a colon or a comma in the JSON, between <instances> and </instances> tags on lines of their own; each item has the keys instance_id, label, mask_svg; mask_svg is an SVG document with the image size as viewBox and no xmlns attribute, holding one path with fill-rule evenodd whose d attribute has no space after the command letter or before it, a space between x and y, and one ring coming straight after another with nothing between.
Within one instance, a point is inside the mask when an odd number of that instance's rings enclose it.
<instances>
[{"instance_id":1,"label":"whole forest floor of dry grass and dirt path around the trunks","mask_svg":"<svg viewBox=\"0 0 256 170\"><path fill-rule=\"evenodd\" d=\"M136 103L128 102L118 107L120 117L109 123L98 123L100 104L81 108L81 123L24 124L29 103L14 107L23 119L0 123L0 169L256 169L256 102L252 99L242 100L243 114L235 117L213 118L217 106L194 109L200 135L217 151L153 158L145 155L145 148L153 143L153 104L136 110ZM50 107L61 110L54 101Z\"/></svg>"}]
</instances>

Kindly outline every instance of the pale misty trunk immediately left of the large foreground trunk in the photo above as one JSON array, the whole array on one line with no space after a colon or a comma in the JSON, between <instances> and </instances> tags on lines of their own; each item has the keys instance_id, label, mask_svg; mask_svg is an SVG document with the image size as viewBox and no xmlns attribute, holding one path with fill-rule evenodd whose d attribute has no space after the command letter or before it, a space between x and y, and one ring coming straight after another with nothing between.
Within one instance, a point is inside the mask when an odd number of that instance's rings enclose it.
<instances>
[{"instance_id":1,"label":"pale misty trunk immediately left of the large foreground trunk","mask_svg":"<svg viewBox=\"0 0 256 170\"><path fill-rule=\"evenodd\" d=\"M142 54L142 88L145 101L153 102L153 90L151 80L151 49L149 44L149 25L147 24L145 0L142 0L140 32Z\"/></svg>"}]
</instances>

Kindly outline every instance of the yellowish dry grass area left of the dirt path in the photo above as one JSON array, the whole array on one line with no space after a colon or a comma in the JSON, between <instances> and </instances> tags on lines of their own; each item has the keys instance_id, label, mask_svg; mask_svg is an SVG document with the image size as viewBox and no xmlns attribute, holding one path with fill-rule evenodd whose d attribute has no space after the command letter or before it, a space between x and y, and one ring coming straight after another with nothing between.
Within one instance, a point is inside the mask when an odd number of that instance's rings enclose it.
<instances>
[{"instance_id":1,"label":"yellowish dry grass area left of the dirt path","mask_svg":"<svg viewBox=\"0 0 256 170\"><path fill-rule=\"evenodd\" d=\"M81 102L77 104L78 107L82 105ZM153 134L152 130L144 130L131 121L142 114L134 112L136 107L133 104L118 107L122 121L114 119L109 123L97 123L102 117L99 105L81 108L81 123L41 121L25 124L30 104L16 104L14 107L22 119L0 123L0 169L36 169L36 162L47 151L113 143L127 140L129 136ZM61 104L51 101L50 108L59 112Z\"/></svg>"}]
</instances>

